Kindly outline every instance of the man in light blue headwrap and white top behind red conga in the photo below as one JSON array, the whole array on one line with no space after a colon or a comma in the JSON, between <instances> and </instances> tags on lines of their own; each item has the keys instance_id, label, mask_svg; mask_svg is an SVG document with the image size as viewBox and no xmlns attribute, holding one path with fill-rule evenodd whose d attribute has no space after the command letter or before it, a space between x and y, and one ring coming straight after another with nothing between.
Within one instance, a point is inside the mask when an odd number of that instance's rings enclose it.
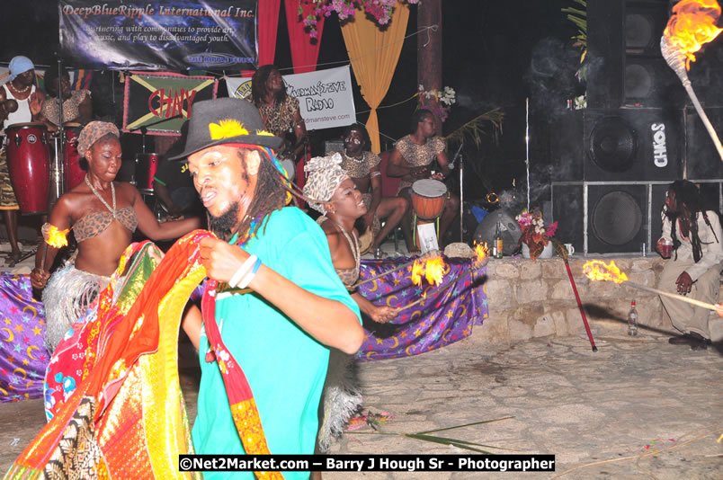
<instances>
[{"instance_id":1,"label":"man in light blue headwrap and white top behind red conga","mask_svg":"<svg viewBox=\"0 0 723 480\"><path fill-rule=\"evenodd\" d=\"M0 103L14 100L17 109L9 112L2 124L2 132L11 125L37 121L42 106L42 97L35 87L35 66L27 57L13 57L10 60L10 81L0 88ZM10 264L13 266L22 258L18 247L18 202L7 169L5 145L0 148L0 210L10 240Z\"/></svg>"}]
</instances>

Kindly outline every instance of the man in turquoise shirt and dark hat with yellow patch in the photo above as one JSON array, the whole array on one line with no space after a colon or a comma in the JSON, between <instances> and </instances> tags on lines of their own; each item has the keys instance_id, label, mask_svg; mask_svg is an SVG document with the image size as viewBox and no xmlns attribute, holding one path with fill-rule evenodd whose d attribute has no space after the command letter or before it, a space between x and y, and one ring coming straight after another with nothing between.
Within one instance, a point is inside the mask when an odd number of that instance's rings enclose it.
<instances>
[{"instance_id":1,"label":"man in turquoise shirt and dark hat with yellow patch","mask_svg":"<svg viewBox=\"0 0 723 480\"><path fill-rule=\"evenodd\" d=\"M287 187L268 149L279 145L281 138L263 131L252 104L227 98L193 105L178 157L188 157L210 229L219 236L201 242L201 259L210 279L220 282L216 323L244 370L268 448L272 454L311 454L327 346L354 353L363 330L359 309L334 271L323 231L299 209L284 207ZM194 449L243 454L219 364L207 361L205 325L200 318L189 322L201 359ZM308 472L283 476L308 478Z\"/></svg>"}]
</instances>

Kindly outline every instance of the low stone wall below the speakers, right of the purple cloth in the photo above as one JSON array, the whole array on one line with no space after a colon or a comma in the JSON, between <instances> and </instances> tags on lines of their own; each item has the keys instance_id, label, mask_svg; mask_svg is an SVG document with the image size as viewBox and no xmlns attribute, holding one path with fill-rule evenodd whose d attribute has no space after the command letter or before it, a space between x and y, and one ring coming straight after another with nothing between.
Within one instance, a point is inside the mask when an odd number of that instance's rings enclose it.
<instances>
[{"instance_id":1,"label":"low stone wall below the speakers, right of the purple cloth","mask_svg":"<svg viewBox=\"0 0 723 480\"><path fill-rule=\"evenodd\" d=\"M599 334L626 332L630 301L635 298L641 331L674 332L656 294L611 281L587 280L583 275L587 260L571 257L569 265L591 329L599 328ZM655 257L604 260L614 260L629 280L653 288L665 262ZM537 337L585 334L565 262L559 257L491 259L485 291L489 318L475 328L471 342L511 345Z\"/></svg>"}]
</instances>

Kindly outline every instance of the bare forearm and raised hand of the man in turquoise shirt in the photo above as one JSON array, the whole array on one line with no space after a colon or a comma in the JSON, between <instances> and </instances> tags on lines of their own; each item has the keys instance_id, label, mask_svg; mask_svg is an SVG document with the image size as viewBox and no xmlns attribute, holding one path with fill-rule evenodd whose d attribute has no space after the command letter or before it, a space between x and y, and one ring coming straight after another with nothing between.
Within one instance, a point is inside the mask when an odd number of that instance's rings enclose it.
<instances>
[{"instance_id":1,"label":"bare forearm and raised hand of the man in turquoise shirt","mask_svg":"<svg viewBox=\"0 0 723 480\"><path fill-rule=\"evenodd\" d=\"M201 240L201 262L213 280L231 280L248 256L244 249L217 238ZM342 302L302 289L263 264L249 287L319 342L349 354L362 345L359 318Z\"/></svg>"}]
</instances>

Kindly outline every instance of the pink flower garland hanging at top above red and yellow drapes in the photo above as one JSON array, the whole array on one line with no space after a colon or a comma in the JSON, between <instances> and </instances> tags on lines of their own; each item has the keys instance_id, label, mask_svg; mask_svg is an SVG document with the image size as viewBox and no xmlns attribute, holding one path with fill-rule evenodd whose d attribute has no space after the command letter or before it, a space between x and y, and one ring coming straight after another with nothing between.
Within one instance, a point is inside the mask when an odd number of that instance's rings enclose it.
<instances>
[{"instance_id":1,"label":"pink flower garland hanging at top above red and yellow drapes","mask_svg":"<svg viewBox=\"0 0 723 480\"><path fill-rule=\"evenodd\" d=\"M419 0L406 0L408 4L417 4ZM299 3L299 16L312 39L318 38L317 22L322 15L329 16L332 12L339 15L339 20L353 17L357 9L371 16L379 25L386 25L397 0L302 0ZM309 13L310 12L310 13Z\"/></svg>"}]
</instances>

